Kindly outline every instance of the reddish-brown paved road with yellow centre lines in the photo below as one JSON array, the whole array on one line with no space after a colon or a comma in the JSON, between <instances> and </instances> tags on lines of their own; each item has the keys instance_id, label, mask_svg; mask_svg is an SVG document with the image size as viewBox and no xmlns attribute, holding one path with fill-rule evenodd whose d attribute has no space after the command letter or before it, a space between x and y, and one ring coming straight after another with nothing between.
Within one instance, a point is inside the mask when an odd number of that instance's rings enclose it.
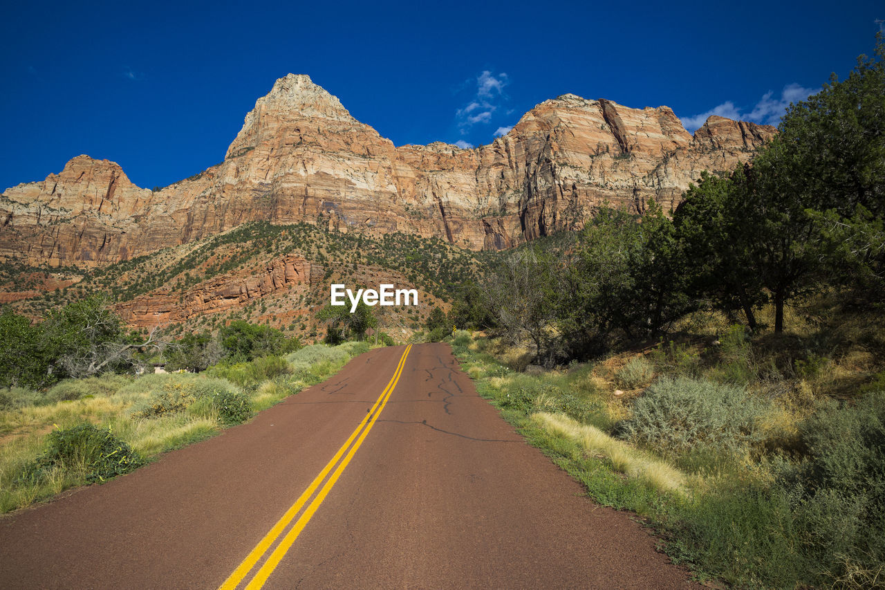
<instances>
[{"instance_id":1,"label":"reddish-brown paved road with yellow centre lines","mask_svg":"<svg viewBox=\"0 0 885 590\"><path fill-rule=\"evenodd\" d=\"M363 354L248 424L0 518L0 587L692 586L654 544L427 344Z\"/></svg>"}]
</instances>

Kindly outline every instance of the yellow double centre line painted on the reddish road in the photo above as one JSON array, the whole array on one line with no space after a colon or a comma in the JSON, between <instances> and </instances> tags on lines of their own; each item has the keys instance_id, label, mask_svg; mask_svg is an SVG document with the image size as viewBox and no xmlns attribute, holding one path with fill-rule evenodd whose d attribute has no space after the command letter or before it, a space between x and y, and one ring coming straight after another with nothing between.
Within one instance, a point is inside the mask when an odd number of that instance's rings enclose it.
<instances>
[{"instance_id":1,"label":"yellow double centre line painted on the reddish road","mask_svg":"<svg viewBox=\"0 0 885 590\"><path fill-rule=\"evenodd\" d=\"M357 452L357 449L360 445L363 444L363 440L366 439L366 435L369 431L372 430L372 427L376 420L378 420L378 416L381 415L381 410L384 409L384 406L387 404L387 401L390 398L390 393L393 392L394 387L396 387L396 382L399 381L400 375L403 374L403 367L405 366L405 357L409 355L409 351L412 350L412 345L408 345L405 347L403 351L403 356L399 359L399 364L396 366L396 371L394 371L393 377L390 378L390 382L387 384L387 387L384 388L384 391L381 392L381 396L379 396L378 400L375 401L373 407L366 414L366 417L363 418L363 421L359 423L357 426L357 430L353 431L350 435L350 438L342 445L338 452L335 453L335 456L332 457L332 460L326 464L326 467L323 468L322 471L319 472L319 475L313 479L311 485L307 486L307 489L304 490L304 493L298 497L298 500L294 504L292 504L291 508L286 510L286 514L282 516L282 518L277 521L277 524L273 525L273 528L267 532L265 538L258 542L258 545L252 549L251 553L246 556L242 563L236 568L234 573L228 577L224 584L219 586L219 590L233 590L235 587L239 586L242 582L243 578L252 571L252 568L261 561L261 559L266 555L268 549L273 545L273 543L277 540L277 538L281 535L283 531L286 530L286 527L292 522L292 520L298 516L298 513L301 512L301 508L304 507L304 504L307 503L308 500L311 499L313 493L316 492L319 485L326 479L326 476L329 474L329 471L335 469L335 472L332 473L332 477L329 477L326 481L326 484L322 486L322 489L319 490L319 493L316 497L313 498L313 501L310 505L304 510L301 516L296 521L295 525L289 529L289 532L286 533L286 536L280 541L280 544L277 545L275 549L273 549L273 553L271 553L270 557L267 558L266 562L261 566L261 568L255 573L255 576L252 577L248 586L246 586L247 590L253 590L256 588L260 588L264 586L267 581L267 577L271 575L276 566L280 563L280 560L286 555L286 552L289 551L289 547L292 547L292 544L298 538L298 535L304 530L304 527L310 522L313 513L317 511L319 505L323 503L323 500L326 499L326 496L329 493L329 490L332 489L332 486L335 485L335 482L338 481L338 477L341 477L341 474L344 468L347 467L347 464L350 462L350 459L353 458L353 454ZM356 439L356 443L354 443L354 439ZM351 443L352 446L351 446ZM348 450L350 449L350 450ZM346 455L344 455L346 453ZM342 460L342 456L344 459ZM337 465L337 468L335 467Z\"/></svg>"}]
</instances>

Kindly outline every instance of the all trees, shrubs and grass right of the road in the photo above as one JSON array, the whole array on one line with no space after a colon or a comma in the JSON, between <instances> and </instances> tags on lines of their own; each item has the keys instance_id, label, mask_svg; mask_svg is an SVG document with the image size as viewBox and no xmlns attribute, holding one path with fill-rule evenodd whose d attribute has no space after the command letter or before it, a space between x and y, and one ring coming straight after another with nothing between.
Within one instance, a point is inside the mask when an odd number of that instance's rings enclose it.
<instances>
[{"instance_id":1,"label":"all trees, shrubs and grass right of the road","mask_svg":"<svg viewBox=\"0 0 885 590\"><path fill-rule=\"evenodd\" d=\"M450 312L481 394L698 578L885 586L882 113L880 42L673 219L603 207Z\"/></svg>"}]
</instances>

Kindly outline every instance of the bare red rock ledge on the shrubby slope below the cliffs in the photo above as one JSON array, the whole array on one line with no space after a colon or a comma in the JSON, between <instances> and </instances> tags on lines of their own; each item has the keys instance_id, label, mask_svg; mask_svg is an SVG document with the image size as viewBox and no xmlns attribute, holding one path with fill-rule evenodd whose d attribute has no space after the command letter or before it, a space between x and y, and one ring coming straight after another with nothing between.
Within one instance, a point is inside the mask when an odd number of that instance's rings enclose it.
<instances>
[{"instance_id":1,"label":"bare red rock ledge on the shrubby slope below the cliffs","mask_svg":"<svg viewBox=\"0 0 885 590\"><path fill-rule=\"evenodd\" d=\"M311 285L312 265L295 255L271 260L248 276L227 273L191 287L184 293L153 291L118 304L115 311L129 326L150 328L205 314L242 309L274 294L306 291ZM301 289L299 289L301 288Z\"/></svg>"}]
</instances>

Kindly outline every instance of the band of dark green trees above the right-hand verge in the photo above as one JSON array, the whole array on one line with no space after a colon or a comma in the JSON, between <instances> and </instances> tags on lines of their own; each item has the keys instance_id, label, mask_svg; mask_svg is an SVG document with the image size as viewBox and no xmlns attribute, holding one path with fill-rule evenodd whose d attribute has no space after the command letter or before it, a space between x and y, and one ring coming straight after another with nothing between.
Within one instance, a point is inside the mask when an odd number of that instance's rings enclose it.
<instances>
[{"instance_id":1,"label":"band of dark green trees above the right-hand verge","mask_svg":"<svg viewBox=\"0 0 885 590\"><path fill-rule=\"evenodd\" d=\"M885 43L791 105L752 165L702 175L667 218L603 206L581 232L533 243L481 272L488 327L534 345L535 362L587 360L673 333L698 312L752 331L789 328L785 310L826 291L846 306L885 303ZM458 314L458 325L478 324ZM492 324L492 325L489 325ZM475 325L475 327L480 327Z\"/></svg>"}]
</instances>

